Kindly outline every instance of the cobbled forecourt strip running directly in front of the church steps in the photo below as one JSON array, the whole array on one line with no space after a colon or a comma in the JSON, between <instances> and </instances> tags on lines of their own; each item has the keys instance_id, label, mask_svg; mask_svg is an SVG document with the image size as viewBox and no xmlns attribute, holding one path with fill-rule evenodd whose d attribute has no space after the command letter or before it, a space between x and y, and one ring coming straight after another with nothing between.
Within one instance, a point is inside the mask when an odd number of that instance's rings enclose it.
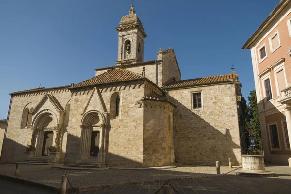
<instances>
[{"instance_id":1,"label":"cobbled forecourt strip running directly in front of the church steps","mask_svg":"<svg viewBox=\"0 0 291 194\"><path fill-rule=\"evenodd\" d=\"M16 164L0 164L0 174L14 176ZM94 187L120 185L133 182L148 182L156 180L166 180L173 178L201 177L216 174L215 166L179 166L177 168L159 170L121 170L108 169L101 171L90 170L64 170L51 168L52 165L21 165L17 178L29 181L60 187L61 178L64 173L68 175L74 187ZM228 166L222 166L221 172L229 171Z\"/></svg>"}]
</instances>

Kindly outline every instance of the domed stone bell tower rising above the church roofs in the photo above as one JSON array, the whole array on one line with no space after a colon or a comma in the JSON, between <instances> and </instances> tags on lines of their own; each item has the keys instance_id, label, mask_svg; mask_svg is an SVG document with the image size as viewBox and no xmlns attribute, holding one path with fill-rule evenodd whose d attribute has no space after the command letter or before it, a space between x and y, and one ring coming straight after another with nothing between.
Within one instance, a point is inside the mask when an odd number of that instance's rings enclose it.
<instances>
[{"instance_id":1,"label":"domed stone bell tower rising above the church roofs","mask_svg":"<svg viewBox=\"0 0 291 194\"><path fill-rule=\"evenodd\" d=\"M117 65L129 65L144 61L144 38L147 37L142 22L135 14L133 4L129 15L123 16L118 32L118 57Z\"/></svg>"}]
</instances>

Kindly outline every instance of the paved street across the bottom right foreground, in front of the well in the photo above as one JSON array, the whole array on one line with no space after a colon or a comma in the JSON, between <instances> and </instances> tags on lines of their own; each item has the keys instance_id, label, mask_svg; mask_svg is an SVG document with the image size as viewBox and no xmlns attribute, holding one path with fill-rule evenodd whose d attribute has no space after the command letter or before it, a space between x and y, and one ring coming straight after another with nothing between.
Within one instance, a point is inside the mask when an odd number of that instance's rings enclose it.
<instances>
[{"instance_id":1,"label":"paved street across the bottom right foreground, in front of the well","mask_svg":"<svg viewBox=\"0 0 291 194\"><path fill-rule=\"evenodd\" d=\"M172 182L179 194L290 194L291 168L270 166L274 178L241 177L234 174L212 178L196 178ZM81 192L80 194L154 194L163 183L132 186L108 190ZM161 191L159 194L163 194ZM175 192L173 191L173 194Z\"/></svg>"}]
</instances>

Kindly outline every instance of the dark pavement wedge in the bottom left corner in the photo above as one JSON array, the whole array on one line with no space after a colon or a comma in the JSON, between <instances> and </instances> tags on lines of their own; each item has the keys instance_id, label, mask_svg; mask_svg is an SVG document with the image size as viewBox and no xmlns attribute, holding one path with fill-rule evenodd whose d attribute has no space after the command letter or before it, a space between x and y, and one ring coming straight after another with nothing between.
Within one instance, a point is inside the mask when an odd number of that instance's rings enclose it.
<instances>
[{"instance_id":1,"label":"dark pavement wedge in the bottom left corner","mask_svg":"<svg viewBox=\"0 0 291 194\"><path fill-rule=\"evenodd\" d=\"M38 187L26 186L0 179L0 194L55 194Z\"/></svg>"}]
</instances>

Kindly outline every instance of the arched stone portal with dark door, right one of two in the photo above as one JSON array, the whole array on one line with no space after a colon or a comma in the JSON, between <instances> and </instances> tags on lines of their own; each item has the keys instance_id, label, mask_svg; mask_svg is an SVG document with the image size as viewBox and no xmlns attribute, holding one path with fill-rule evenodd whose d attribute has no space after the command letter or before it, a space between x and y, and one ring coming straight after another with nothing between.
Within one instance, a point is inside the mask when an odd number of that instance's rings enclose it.
<instances>
[{"instance_id":1,"label":"arched stone portal with dark door, right one of two","mask_svg":"<svg viewBox=\"0 0 291 194\"><path fill-rule=\"evenodd\" d=\"M96 161L104 159L105 116L99 111L85 113L81 122L81 160L95 157Z\"/></svg>"}]
</instances>

